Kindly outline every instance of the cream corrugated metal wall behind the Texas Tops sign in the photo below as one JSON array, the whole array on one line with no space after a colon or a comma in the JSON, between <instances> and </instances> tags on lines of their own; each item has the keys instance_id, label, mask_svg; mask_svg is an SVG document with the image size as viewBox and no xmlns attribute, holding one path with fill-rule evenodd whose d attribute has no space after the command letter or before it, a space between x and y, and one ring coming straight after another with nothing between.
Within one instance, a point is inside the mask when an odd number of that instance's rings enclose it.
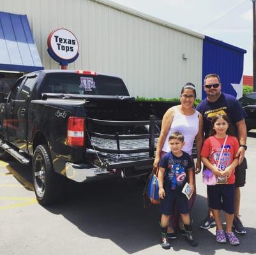
<instances>
[{"instance_id":1,"label":"cream corrugated metal wall behind the Texas Tops sign","mask_svg":"<svg viewBox=\"0 0 256 255\"><path fill-rule=\"evenodd\" d=\"M99 3L100 2L100 3ZM45 69L59 68L47 53L47 36L59 27L79 40L80 56L68 69L123 78L133 96L174 98L184 83L201 92L202 38L154 22L109 1L1 0L3 11L27 14ZM182 54L188 59L184 60Z\"/></svg>"}]
</instances>

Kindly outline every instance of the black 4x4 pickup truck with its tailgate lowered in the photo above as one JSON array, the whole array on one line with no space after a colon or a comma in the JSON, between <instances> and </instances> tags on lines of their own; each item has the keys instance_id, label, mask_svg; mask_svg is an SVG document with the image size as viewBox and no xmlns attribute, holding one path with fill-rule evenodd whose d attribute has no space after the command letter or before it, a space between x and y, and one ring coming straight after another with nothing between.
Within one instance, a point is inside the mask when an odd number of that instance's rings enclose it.
<instances>
[{"instance_id":1,"label":"black 4x4 pickup truck with its tailgate lowered","mask_svg":"<svg viewBox=\"0 0 256 255\"><path fill-rule=\"evenodd\" d=\"M147 175L163 113L177 103L140 102L123 80L92 71L43 70L0 95L0 159L31 164L41 205L75 182Z\"/></svg>"}]
</instances>

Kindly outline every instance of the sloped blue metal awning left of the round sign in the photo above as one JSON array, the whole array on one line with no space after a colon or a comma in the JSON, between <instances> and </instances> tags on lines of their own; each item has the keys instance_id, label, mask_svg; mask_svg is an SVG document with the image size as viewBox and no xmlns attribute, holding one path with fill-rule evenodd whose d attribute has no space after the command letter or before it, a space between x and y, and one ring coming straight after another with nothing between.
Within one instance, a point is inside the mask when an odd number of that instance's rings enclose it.
<instances>
[{"instance_id":1,"label":"sloped blue metal awning left of the round sign","mask_svg":"<svg viewBox=\"0 0 256 255\"><path fill-rule=\"evenodd\" d=\"M27 15L0 11L0 70L43 69Z\"/></svg>"}]
</instances>

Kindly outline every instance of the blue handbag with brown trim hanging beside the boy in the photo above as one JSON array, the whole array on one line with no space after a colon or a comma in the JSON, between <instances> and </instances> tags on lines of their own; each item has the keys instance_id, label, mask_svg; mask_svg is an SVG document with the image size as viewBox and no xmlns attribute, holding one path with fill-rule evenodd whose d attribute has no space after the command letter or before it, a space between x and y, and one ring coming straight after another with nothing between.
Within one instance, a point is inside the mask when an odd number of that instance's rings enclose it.
<instances>
[{"instance_id":1,"label":"blue handbag with brown trim hanging beside the boy","mask_svg":"<svg viewBox=\"0 0 256 255\"><path fill-rule=\"evenodd\" d=\"M147 179L143 192L144 208L149 207L151 204L158 205L161 203L158 194L158 169L159 168L153 168L151 175L149 175Z\"/></svg>"}]
</instances>

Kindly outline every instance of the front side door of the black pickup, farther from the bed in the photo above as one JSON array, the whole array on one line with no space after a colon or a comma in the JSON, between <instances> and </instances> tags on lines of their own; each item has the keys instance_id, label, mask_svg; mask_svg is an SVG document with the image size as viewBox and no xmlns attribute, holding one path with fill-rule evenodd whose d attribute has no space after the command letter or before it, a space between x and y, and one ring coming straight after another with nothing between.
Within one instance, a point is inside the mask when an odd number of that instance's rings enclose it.
<instances>
[{"instance_id":1,"label":"front side door of the black pickup, farther from the bed","mask_svg":"<svg viewBox=\"0 0 256 255\"><path fill-rule=\"evenodd\" d=\"M13 144L15 144L15 136L16 136L16 130L15 130L15 122L16 120L13 119L13 110L15 106L15 100L17 99L18 92L20 90L20 85L24 82L24 78L18 80L16 84L11 89L11 93L8 96L7 102L6 102L6 119L4 122L4 128L5 128L5 136L7 140Z\"/></svg>"}]
</instances>

